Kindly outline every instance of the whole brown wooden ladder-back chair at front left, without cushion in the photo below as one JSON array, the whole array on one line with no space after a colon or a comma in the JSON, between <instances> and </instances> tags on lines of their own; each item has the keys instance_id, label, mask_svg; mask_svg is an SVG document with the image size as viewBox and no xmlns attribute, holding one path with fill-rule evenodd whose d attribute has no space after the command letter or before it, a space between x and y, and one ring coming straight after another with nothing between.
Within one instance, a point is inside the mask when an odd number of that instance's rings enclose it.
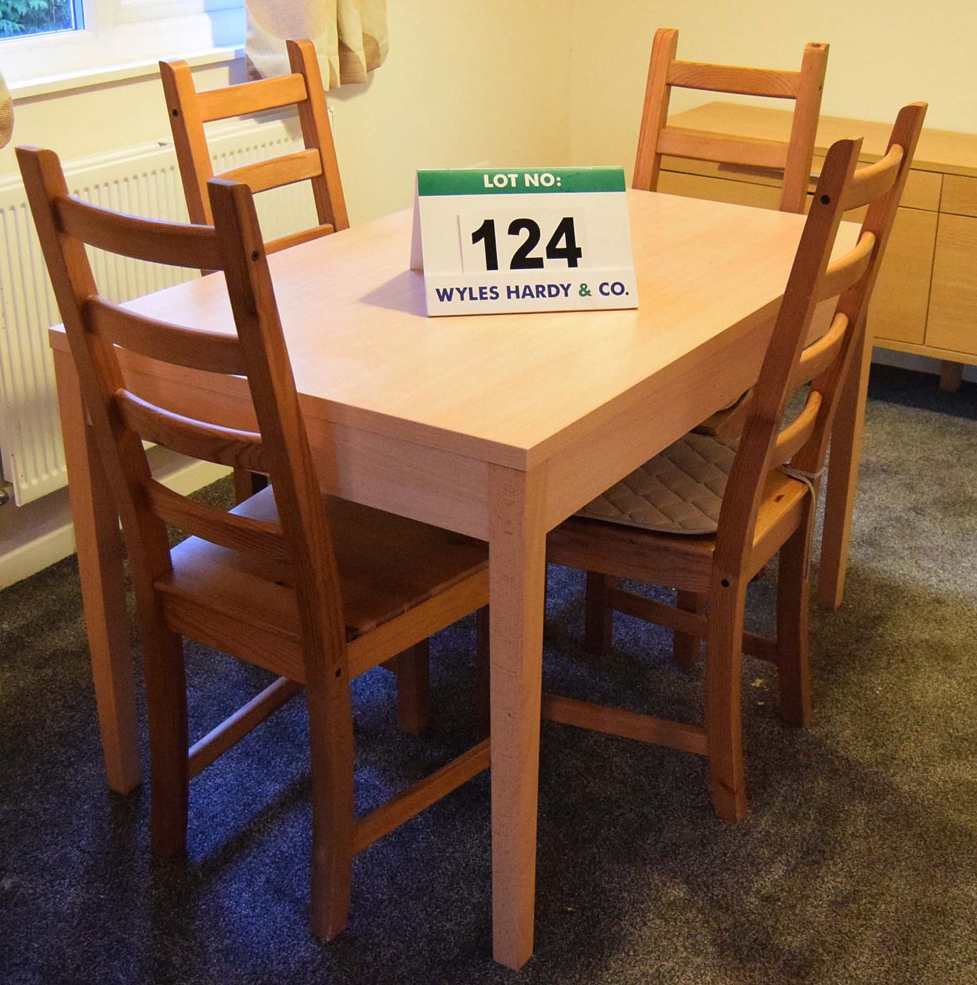
<instances>
[{"instance_id":1,"label":"whole brown wooden ladder-back chair at front left, without cushion","mask_svg":"<svg viewBox=\"0 0 977 985\"><path fill-rule=\"evenodd\" d=\"M183 853L189 778L304 687L310 923L330 939L347 922L353 855L489 766L485 741L354 819L350 679L395 660L409 688L423 693L426 662L414 661L418 649L425 658L431 633L488 603L486 546L319 492L267 249L245 185L211 181L215 227L180 226L70 197L50 151L19 148L18 160L122 519L143 638L153 850ZM85 244L223 270L237 335L166 324L109 303L98 295ZM183 371L246 377L257 427L228 425L230 412L216 399L204 420L175 398L166 407L144 399L129 388L121 350ZM226 513L156 482L143 439L267 473L272 486ZM166 523L192 536L170 550ZM182 636L281 675L189 750Z\"/></svg>"}]
</instances>

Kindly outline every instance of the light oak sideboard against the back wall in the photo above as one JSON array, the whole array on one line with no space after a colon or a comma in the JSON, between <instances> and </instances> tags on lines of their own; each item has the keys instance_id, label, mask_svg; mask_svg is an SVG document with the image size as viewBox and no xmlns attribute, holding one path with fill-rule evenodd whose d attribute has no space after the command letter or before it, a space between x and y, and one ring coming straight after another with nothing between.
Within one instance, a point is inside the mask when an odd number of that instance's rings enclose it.
<instances>
[{"instance_id":1,"label":"light oak sideboard against the back wall","mask_svg":"<svg viewBox=\"0 0 977 985\"><path fill-rule=\"evenodd\" d=\"M893 110L894 118L894 110ZM791 113L708 102L669 125L786 141ZM812 170L830 145L862 137L863 163L885 153L890 124L822 116ZM755 167L665 158L659 191L775 209L780 175ZM814 181L811 184L814 191ZM861 218L853 213L846 217ZM924 130L869 308L883 349L943 361L942 385L959 386L963 363L977 364L977 134Z\"/></svg>"}]
</instances>

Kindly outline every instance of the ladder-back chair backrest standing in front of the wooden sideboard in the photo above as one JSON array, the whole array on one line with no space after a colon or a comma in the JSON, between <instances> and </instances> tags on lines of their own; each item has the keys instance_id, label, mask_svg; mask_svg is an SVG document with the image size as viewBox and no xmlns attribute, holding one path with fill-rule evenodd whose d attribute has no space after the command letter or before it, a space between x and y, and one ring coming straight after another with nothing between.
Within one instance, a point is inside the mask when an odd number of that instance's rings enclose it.
<instances>
[{"instance_id":1,"label":"ladder-back chair backrest standing in front of the wooden sideboard","mask_svg":"<svg viewBox=\"0 0 977 985\"><path fill-rule=\"evenodd\" d=\"M800 71L781 72L679 61L676 58L678 45L679 32L674 28L660 28L655 33L633 186L645 191L654 191L658 187L663 155L770 168L784 174L781 211L804 212L828 46L808 44L804 49ZM669 99L676 86L711 93L793 99L795 105L790 140L784 143L670 127Z\"/></svg>"}]
</instances>

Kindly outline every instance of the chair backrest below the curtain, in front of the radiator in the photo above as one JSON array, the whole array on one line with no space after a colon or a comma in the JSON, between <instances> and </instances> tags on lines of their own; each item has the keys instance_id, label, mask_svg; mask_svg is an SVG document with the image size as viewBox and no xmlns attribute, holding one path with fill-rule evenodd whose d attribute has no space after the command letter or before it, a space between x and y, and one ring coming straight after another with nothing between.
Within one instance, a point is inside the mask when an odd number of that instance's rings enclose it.
<instances>
[{"instance_id":1,"label":"chair backrest below the curtain, in front of the radiator","mask_svg":"<svg viewBox=\"0 0 977 985\"><path fill-rule=\"evenodd\" d=\"M290 40L288 50L291 75L204 93L197 92L193 74L185 61L160 62L169 125L191 223L210 226L214 218L207 192L207 182L214 177L214 166L207 149L204 124L263 109L293 104L297 107L304 151L244 164L218 175L243 182L255 194L296 181L311 182L318 226L271 240L267 244L270 251L350 226L315 48L308 40Z\"/></svg>"}]
</instances>

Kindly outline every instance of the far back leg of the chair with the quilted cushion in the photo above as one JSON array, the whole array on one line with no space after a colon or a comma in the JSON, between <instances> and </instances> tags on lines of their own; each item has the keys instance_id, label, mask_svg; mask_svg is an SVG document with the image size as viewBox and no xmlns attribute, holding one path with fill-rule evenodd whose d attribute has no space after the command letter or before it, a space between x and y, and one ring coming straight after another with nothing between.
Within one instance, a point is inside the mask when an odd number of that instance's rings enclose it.
<instances>
[{"instance_id":1,"label":"far back leg of the chair with the quilted cushion","mask_svg":"<svg viewBox=\"0 0 977 985\"><path fill-rule=\"evenodd\" d=\"M811 722L811 674L808 666L808 558L814 511L780 549L777 575L777 682L780 711L792 725Z\"/></svg>"}]
</instances>

